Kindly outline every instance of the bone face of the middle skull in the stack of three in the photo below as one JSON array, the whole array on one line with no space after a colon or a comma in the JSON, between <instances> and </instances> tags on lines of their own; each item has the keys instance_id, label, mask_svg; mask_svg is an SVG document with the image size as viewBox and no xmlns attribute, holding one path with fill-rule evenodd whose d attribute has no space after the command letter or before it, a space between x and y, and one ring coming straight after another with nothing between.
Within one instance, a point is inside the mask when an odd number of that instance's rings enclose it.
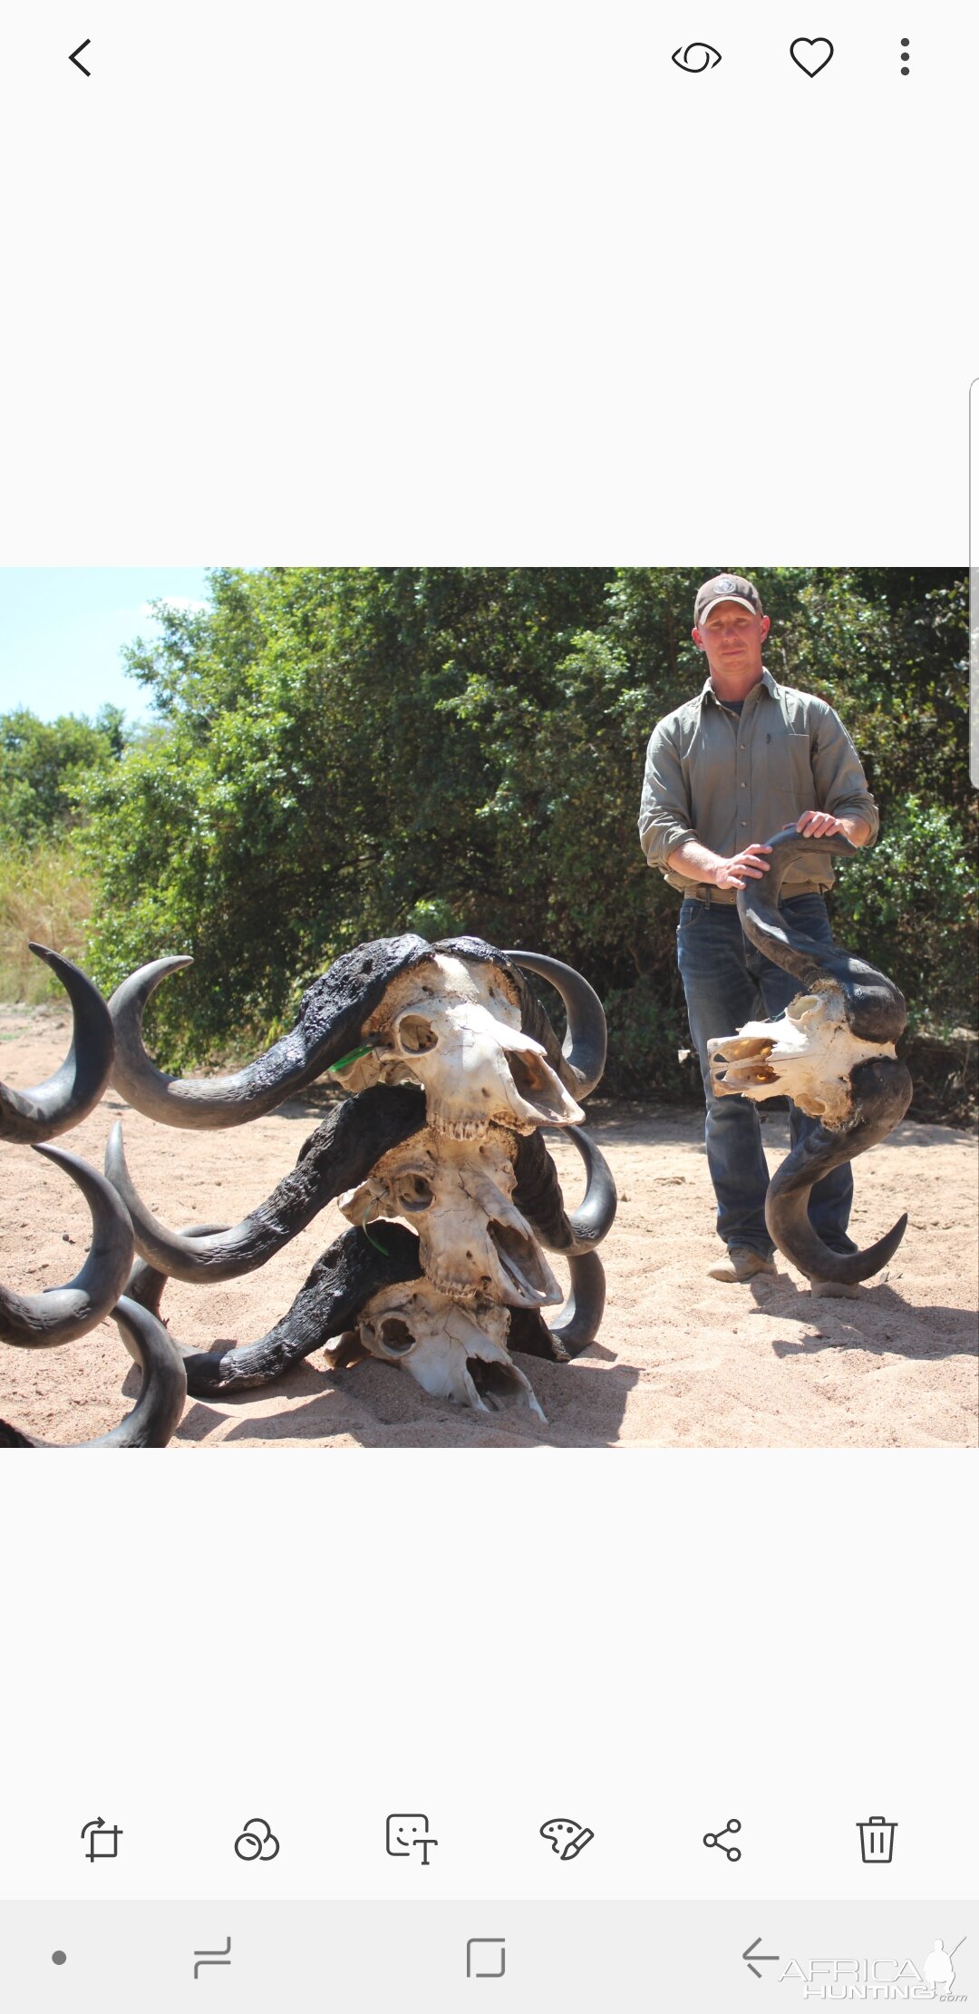
<instances>
[{"instance_id":1,"label":"bone face of the middle skull in the stack of three","mask_svg":"<svg viewBox=\"0 0 979 2014\"><path fill-rule=\"evenodd\" d=\"M481 1140L429 1128L383 1154L367 1180L340 1196L340 1210L353 1225L403 1216L419 1235L427 1279L457 1301L560 1303L558 1281L510 1200L516 1146L516 1134L500 1126Z\"/></svg>"}]
</instances>

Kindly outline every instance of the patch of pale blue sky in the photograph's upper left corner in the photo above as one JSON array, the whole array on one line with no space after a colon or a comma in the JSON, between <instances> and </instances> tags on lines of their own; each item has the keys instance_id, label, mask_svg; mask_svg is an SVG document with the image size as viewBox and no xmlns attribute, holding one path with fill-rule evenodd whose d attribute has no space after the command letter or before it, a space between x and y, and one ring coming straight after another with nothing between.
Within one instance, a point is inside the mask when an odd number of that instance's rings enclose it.
<instances>
[{"instance_id":1,"label":"patch of pale blue sky in the photograph's upper left corner","mask_svg":"<svg viewBox=\"0 0 979 2014\"><path fill-rule=\"evenodd\" d=\"M0 568L0 713L30 707L42 721L97 713L149 715L147 695L123 673L123 644L153 634L147 602L205 602L201 566Z\"/></svg>"}]
</instances>

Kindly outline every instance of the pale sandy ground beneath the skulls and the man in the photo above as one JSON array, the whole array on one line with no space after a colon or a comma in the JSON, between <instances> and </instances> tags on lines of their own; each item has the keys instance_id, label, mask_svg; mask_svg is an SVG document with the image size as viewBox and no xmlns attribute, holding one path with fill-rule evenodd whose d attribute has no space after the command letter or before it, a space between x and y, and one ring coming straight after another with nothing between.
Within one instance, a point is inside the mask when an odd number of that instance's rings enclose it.
<instances>
[{"instance_id":1,"label":"pale sandy ground beneath the skulls and the man","mask_svg":"<svg viewBox=\"0 0 979 2014\"><path fill-rule=\"evenodd\" d=\"M26 1088L68 1045L60 1011L0 1009L0 1075ZM236 1222L296 1160L322 1106L294 1102L232 1132L189 1134L131 1112L115 1092L60 1144L101 1166L125 1118L137 1188L169 1227ZM908 1231L884 1279L856 1301L812 1299L780 1259L780 1277L725 1287L701 1112L610 1108L590 1126L618 1182L618 1218L602 1247L608 1305L598 1339L574 1363L516 1361L548 1424L528 1412L477 1414L421 1392L407 1372L359 1363L330 1372L316 1351L280 1384L232 1402L187 1400L173 1448L951 1448L977 1438L977 1168L971 1134L902 1124L858 1162L852 1233L870 1245L900 1214ZM574 1206L580 1162L550 1136ZM765 1120L770 1162L786 1120ZM0 1148L0 1277L40 1291L71 1279L89 1241L73 1182L30 1148ZM290 1305L318 1253L346 1229L330 1204L284 1253L228 1285L173 1281L171 1333L195 1347L258 1339ZM560 1261L554 1261L558 1277ZM566 1277L566 1275L564 1275ZM115 1325L81 1343L0 1343L0 1418L68 1446L107 1432L139 1380Z\"/></svg>"}]
</instances>

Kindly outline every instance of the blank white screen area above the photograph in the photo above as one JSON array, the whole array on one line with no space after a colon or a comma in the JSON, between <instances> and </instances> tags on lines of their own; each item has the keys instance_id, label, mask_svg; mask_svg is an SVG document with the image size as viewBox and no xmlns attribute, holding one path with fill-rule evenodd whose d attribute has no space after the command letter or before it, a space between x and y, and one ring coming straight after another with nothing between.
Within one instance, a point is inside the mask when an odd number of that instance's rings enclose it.
<instances>
[{"instance_id":1,"label":"blank white screen area above the photograph","mask_svg":"<svg viewBox=\"0 0 979 2014\"><path fill-rule=\"evenodd\" d=\"M8 564L965 562L975 10L46 0L2 58Z\"/></svg>"}]
</instances>

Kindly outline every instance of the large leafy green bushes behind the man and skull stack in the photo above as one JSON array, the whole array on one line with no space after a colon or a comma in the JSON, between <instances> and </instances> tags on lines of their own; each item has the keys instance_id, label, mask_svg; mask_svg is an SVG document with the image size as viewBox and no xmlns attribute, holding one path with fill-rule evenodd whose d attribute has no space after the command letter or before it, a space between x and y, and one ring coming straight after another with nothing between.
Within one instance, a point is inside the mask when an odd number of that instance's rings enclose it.
<instances>
[{"instance_id":1,"label":"large leafy green bushes behind the man and skull stack","mask_svg":"<svg viewBox=\"0 0 979 2014\"><path fill-rule=\"evenodd\" d=\"M717 556L713 556L717 558ZM731 556L721 556L729 560ZM973 1013L967 582L945 570L745 568L776 677L822 693L882 836L836 928L921 1021ZM216 572L157 610L131 671L157 733L95 765L81 846L105 987L167 951L171 1067L268 1041L340 951L475 930L578 965L608 1001L610 1090L685 1090L677 896L637 838L655 721L703 685L699 568Z\"/></svg>"}]
</instances>

